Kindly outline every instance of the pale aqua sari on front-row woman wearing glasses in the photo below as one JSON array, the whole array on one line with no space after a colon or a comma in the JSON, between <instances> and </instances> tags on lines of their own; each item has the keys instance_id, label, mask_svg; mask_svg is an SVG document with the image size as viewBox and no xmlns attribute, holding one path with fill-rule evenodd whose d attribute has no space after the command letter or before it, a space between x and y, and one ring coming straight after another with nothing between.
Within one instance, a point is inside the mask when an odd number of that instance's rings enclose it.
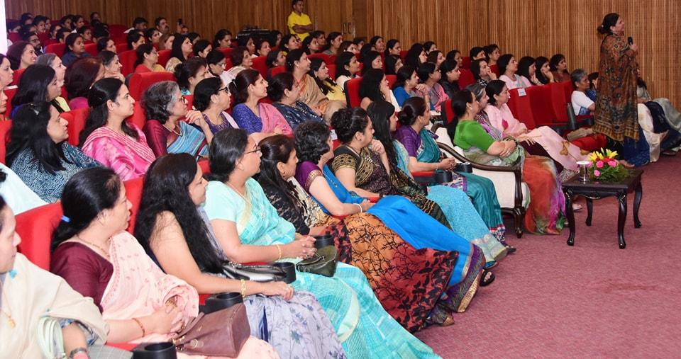
<instances>
[{"instance_id":1,"label":"pale aqua sari on front-row woman wearing glasses","mask_svg":"<svg viewBox=\"0 0 681 359\"><path fill-rule=\"evenodd\" d=\"M245 186L242 198L226 184L210 181L204 203L209 220L235 222L243 244L273 246L293 241L293 224L277 215L258 182L249 178ZM299 271L296 277L292 287L311 292L319 300L348 358L389 358L395 353L409 358L436 356L385 312L358 268L338 263L331 278Z\"/></svg>"}]
</instances>

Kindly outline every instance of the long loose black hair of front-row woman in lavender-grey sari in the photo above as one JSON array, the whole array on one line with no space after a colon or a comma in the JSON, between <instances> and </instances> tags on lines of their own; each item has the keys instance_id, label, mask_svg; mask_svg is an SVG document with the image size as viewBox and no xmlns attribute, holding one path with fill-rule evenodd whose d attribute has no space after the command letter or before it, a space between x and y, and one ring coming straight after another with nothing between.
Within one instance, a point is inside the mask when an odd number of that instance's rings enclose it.
<instances>
[{"instance_id":1,"label":"long loose black hair of front-row woman in lavender-grey sari","mask_svg":"<svg viewBox=\"0 0 681 359\"><path fill-rule=\"evenodd\" d=\"M135 220L135 237L150 255L150 237L160 213L171 212L182 228L189 252L201 270L222 273L223 260L211 244L211 232L189 196L198 166L190 154L166 154L149 166L142 190L140 210Z\"/></svg>"}]
</instances>

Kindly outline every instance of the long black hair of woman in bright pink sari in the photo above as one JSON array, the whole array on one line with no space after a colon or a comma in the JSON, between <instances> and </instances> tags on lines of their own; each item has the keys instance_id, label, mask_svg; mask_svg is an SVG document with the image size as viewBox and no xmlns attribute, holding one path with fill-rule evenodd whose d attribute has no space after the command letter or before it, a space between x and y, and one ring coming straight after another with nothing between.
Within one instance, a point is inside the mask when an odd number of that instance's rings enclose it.
<instances>
[{"instance_id":1,"label":"long black hair of woman in bright pink sari","mask_svg":"<svg viewBox=\"0 0 681 359\"><path fill-rule=\"evenodd\" d=\"M90 113L87 115L84 129L78 137L79 147L83 147L85 140L94 130L106 126L106 122L109 120L109 106L107 106L107 103L109 101L116 102L118 91L121 91L122 86L123 82L113 77L101 79L92 85L92 89L90 89L87 95L87 105L90 106ZM139 139L137 131L128 125L128 121L123 120L121 130L126 135Z\"/></svg>"}]
</instances>

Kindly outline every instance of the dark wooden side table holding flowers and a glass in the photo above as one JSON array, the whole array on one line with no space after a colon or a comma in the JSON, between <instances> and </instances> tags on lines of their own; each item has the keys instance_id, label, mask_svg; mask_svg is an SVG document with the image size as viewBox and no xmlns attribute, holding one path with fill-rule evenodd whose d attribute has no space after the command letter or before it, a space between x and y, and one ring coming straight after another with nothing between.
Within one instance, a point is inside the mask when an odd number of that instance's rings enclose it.
<instances>
[{"instance_id":1,"label":"dark wooden side table holding flowers and a glass","mask_svg":"<svg viewBox=\"0 0 681 359\"><path fill-rule=\"evenodd\" d=\"M634 193L633 197L633 227L640 228L641 221L638 220L638 207L641 206L643 197L643 187L641 186L642 169L629 170L629 176L619 183L601 183L591 181L583 183L579 176L572 176L563 183L563 193L565 193L565 212L567 222L570 227L570 237L567 238L567 245L575 245L575 212L572 210L572 199L577 195L587 198L587 226L591 226L592 215L594 212L593 200L615 196L619 202L619 215L617 217L617 239L619 248L625 249L624 224L626 223L626 195Z\"/></svg>"}]
</instances>

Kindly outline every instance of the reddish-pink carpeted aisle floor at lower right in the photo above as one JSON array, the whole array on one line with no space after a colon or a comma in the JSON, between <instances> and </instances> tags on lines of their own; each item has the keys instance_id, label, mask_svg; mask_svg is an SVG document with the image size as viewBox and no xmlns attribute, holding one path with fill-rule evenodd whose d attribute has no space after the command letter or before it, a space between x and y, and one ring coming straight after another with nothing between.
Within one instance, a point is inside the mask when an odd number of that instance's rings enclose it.
<instances>
[{"instance_id":1,"label":"reddish-pink carpeted aisle floor at lower right","mask_svg":"<svg viewBox=\"0 0 681 359\"><path fill-rule=\"evenodd\" d=\"M592 227L586 208L575 213L574 247L567 229L509 237L518 252L467 312L416 336L443 358L681 356L681 154L643 169L643 226L633 228L629 195L626 249L616 200L594 201Z\"/></svg>"}]
</instances>

